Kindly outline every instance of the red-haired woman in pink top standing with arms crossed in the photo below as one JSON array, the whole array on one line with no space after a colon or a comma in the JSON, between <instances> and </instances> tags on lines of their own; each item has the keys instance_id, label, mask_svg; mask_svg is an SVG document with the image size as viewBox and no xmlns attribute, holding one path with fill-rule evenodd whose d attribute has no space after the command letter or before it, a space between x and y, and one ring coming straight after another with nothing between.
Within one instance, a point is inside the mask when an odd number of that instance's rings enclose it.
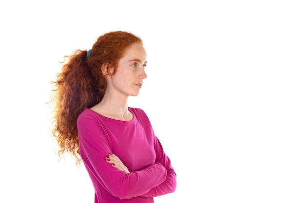
<instances>
[{"instance_id":1,"label":"red-haired woman in pink top standing with arms crossed","mask_svg":"<svg viewBox=\"0 0 305 203\"><path fill-rule=\"evenodd\" d=\"M147 115L128 106L146 64L141 38L109 32L70 55L53 82L58 155L68 151L84 163L95 203L153 203L175 191L176 174Z\"/></svg>"}]
</instances>

